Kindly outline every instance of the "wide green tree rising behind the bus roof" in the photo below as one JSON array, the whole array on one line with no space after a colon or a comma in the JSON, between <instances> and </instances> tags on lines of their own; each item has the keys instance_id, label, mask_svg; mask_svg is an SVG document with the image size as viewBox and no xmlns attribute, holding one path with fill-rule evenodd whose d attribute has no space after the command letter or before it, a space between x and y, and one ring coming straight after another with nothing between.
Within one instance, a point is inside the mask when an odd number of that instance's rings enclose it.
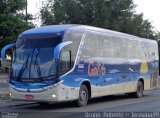
<instances>
[{"instance_id":1,"label":"wide green tree rising behind the bus roof","mask_svg":"<svg viewBox=\"0 0 160 118\"><path fill-rule=\"evenodd\" d=\"M42 25L85 24L156 39L154 27L136 14L133 0L49 0Z\"/></svg>"}]
</instances>

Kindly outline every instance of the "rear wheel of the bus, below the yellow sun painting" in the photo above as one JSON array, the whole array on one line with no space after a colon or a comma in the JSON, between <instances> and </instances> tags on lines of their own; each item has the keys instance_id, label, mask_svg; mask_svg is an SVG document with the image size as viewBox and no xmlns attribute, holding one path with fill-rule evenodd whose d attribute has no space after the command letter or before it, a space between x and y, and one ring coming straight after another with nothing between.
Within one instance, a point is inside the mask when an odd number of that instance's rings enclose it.
<instances>
[{"instance_id":1,"label":"rear wheel of the bus, below the yellow sun painting","mask_svg":"<svg viewBox=\"0 0 160 118\"><path fill-rule=\"evenodd\" d=\"M137 89L134 93L129 93L130 96L133 96L135 98L140 98L143 96L143 83L141 81L138 81L137 83Z\"/></svg>"}]
</instances>

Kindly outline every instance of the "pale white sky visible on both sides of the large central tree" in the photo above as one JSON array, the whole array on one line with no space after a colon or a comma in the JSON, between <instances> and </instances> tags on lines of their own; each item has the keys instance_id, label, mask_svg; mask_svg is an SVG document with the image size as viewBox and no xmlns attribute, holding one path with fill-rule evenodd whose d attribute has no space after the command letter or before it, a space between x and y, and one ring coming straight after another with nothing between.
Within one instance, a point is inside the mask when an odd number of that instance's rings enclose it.
<instances>
[{"instance_id":1,"label":"pale white sky visible on both sides of the large central tree","mask_svg":"<svg viewBox=\"0 0 160 118\"><path fill-rule=\"evenodd\" d=\"M40 1L40 2L39 2ZM28 13L36 15L42 4L47 0L28 0ZM148 19L157 31L160 31L160 0L133 0L137 5L136 12L143 13L144 19ZM39 22L35 24L39 25Z\"/></svg>"}]
</instances>

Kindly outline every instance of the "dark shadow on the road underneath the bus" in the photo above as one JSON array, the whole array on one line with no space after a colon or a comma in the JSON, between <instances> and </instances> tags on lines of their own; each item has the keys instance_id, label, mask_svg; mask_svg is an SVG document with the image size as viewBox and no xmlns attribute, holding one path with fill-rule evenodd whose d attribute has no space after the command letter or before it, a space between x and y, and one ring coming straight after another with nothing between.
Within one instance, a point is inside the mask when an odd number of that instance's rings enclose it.
<instances>
[{"instance_id":1,"label":"dark shadow on the road underneath the bus","mask_svg":"<svg viewBox=\"0 0 160 118\"><path fill-rule=\"evenodd\" d=\"M149 95L144 95L143 97L147 97ZM91 100L89 100L87 106L90 105L95 105L95 104L99 104L99 103L106 103L106 102L116 102L116 101L120 101L120 100L125 100L125 99L137 99L137 98L133 98L130 97L128 95L117 95L117 96L104 96L104 97L99 97L99 98L93 98ZM39 105L34 104L31 106L26 106L25 109L26 110L34 110L34 111L39 111L39 110L60 110L60 109L66 109L66 108L79 108L76 105L76 102L72 101L72 102L62 102L62 103L50 103L50 104L43 104L43 105ZM83 108L83 107L81 107Z\"/></svg>"}]
</instances>

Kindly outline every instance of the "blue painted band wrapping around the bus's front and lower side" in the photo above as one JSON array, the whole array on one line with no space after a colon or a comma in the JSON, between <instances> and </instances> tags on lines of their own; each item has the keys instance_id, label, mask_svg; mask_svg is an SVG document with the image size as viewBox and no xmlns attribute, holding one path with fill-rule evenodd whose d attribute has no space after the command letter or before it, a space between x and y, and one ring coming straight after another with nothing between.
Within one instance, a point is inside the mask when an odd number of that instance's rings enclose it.
<instances>
[{"instance_id":1,"label":"blue painted band wrapping around the bus's front and lower side","mask_svg":"<svg viewBox=\"0 0 160 118\"><path fill-rule=\"evenodd\" d=\"M82 62L81 62L82 63ZM25 82L16 82L11 80L10 84L14 85L18 88L28 88L28 89L38 89L43 88L49 85L56 84L60 80L64 80L63 84L70 87L80 87L80 84L83 80L90 81L91 85L94 86L107 86L112 84L122 84L124 82L136 81L140 77L144 77L145 79L151 79L151 75L154 70L157 68L156 64L158 61L148 62L148 71L147 73L140 72L141 63L135 63L134 65L130 65L135 72L131 72L128 67L129 64L122 65L110 65L104 64L107 71L105 75L97 75L97 76L89 76L88 75L88 63L84 64L84 70L78 70L78 65L75 67L74 71L67 74L67 76L63 76L60 79L44 81L41 83L25 83Z\"/></svg>"}]
</instances>

